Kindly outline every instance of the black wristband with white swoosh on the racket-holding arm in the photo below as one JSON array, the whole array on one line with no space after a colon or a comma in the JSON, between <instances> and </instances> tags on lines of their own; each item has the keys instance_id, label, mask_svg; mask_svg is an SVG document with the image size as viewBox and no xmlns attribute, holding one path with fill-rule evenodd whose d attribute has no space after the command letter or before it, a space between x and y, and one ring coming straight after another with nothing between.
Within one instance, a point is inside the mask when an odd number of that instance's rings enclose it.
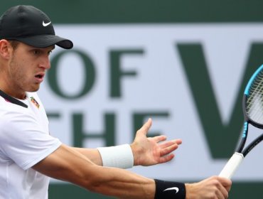
<instances>
[{"instance_id":1,"label":"black wristband with white swoosh on the racket-holding arm","mask_svg":"<svg viewBox=\"0 0 263 199\"><path fill-rule=\"evenodd\" d=\"M186 185L184 183L160 181L155 179L156 192L154 199L186 199Z\"/></svg>"}]
</instances>

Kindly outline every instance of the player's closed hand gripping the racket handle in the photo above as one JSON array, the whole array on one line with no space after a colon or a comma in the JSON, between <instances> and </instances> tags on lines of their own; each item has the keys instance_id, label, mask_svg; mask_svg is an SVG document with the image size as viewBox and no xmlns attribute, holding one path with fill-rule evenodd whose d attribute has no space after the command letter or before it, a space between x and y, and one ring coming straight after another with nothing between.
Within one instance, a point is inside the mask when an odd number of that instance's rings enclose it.
<instances>
[{"instance_id":1,"label":"player's closed hand gripping the racket handle","mask_svg":"<svg viewBox=\"0 0 263 199\"><path fill-rule=\"evenodd\" d=\"M198 183L186 183L186 199L228 198L232 182L227 178L213 176Z\"/></svg>"}]
</instances>

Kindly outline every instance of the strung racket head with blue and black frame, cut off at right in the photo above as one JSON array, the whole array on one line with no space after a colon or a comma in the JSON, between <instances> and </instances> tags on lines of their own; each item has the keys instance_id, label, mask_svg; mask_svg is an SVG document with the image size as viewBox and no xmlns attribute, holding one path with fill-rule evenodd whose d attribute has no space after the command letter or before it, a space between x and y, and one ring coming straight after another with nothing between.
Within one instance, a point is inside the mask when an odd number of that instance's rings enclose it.
<instances>
[{"instance_id":1,"label":"strung racket head with blue and black frame, cut off at right","mask_svg":"<svg viewBox=\"0 0 263 199\"><path fill-rule=\"evenodd\" d=\"M263 65L249 79L243 97L245 120L263 129Z\"/></svg>"}]
</instances>

